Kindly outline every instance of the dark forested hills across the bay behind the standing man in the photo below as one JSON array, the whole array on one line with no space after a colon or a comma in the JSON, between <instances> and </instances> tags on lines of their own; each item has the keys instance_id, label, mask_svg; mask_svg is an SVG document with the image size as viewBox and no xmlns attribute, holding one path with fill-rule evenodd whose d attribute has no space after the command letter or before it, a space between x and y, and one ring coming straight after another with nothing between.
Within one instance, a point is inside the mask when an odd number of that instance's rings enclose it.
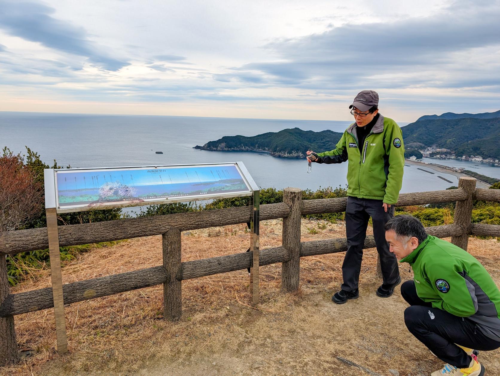
<instances>
[{"instance_id":1,"label":"dark forested hills across the bay behind the standing man","mask_svg":"<svg viewBox=\"0 0 500 376\"><path fill-rule=\"evenodd\" d=\"M500 110L480 114L425 115L402 128L405 149L418 155L418 149L428 146L446 148L457 156L480 155L500 158ZM332 150L342 133L324 130L303 131L283 129L252 137L224 136L195 149L213 151L263 151L272 156L304 158L307 150Z\"/></svg>"}]
</instances>

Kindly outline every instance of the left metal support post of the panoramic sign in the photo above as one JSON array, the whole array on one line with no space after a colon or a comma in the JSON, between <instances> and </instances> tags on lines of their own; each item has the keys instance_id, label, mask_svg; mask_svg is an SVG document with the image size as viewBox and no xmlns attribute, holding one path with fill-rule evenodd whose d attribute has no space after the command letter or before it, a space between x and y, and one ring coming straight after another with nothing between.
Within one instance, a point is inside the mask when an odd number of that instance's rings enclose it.
<instances>
[{"instance_id":1,"label":"left metal support post of the panoramic sign","mask_svg":"<svg viewBox=\"0 0 500 376\"><path fill-rule=\"evenodd\" d=\"M53 170L45 170L45 215L47 218L48 251L50 256L50 278L52 280L52 298L54 302L55 335L57 353L67 352L66 317L62 296L61 259L59 253L59 234L57 231L57 213L55 208L55 181Z\"/></svg>"}]
</instances>

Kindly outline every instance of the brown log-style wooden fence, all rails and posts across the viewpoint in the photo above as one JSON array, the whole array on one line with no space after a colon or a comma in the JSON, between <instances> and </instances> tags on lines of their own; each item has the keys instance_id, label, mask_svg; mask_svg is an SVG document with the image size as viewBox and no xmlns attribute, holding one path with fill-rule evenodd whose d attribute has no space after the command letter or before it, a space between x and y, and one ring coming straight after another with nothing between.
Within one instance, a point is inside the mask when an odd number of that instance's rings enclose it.
<instances>
[{"instance_id":1,"label":"brown log-style wooden fence, all rails and posts across the viewpoint","mask_svg":"<svg viewBox=\"0 0 500 376\"><path fill-rule=\"evenodd\" d=\"M466 249L469 235L500 236L499 225L472 224L472 200L500 201L500 191L475 189L475 179L460 178L458 189L405 193L396 206L456 201L454 223L427 227L429 235L452 237L452 243ZM346 198L301 200L301 191L286 188L283 203L260 206L260 219L283 218L281 247L259 251L259 264L282 263L282 290L296 291L300 257L323 255L347 250L347 240L328 239L300 242L300 216L345 211ZM180 232L200 228L246 223L250 207L179 213L158 217L133 218L59 228L61 246L88 244L162 235L163 265L63 285L64 304L118 294L163 284L164 318L176 321L182 312L181 281L252 267L252 252L180 261ZM47 230L33 229L0 233L0 256L46 248ZM373 236L367 236L364 248L375 247ZM53 307L52 288L10 294L6 279L5 258L0 257L0 366L18 361L13 316Z\"/></svg>"}]
</instances>

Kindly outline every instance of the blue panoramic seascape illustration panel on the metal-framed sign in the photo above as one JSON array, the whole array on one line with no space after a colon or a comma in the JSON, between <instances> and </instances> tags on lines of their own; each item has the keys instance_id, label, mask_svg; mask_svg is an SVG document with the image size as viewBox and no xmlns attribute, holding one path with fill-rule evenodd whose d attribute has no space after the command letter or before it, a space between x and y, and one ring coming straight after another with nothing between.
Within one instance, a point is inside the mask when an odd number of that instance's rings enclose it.
<instances>
[{"instance_id":1,"label":"blue panoramic seascape illustration panel on the metal-framed sign","mask_svg":"<svg viewBox=\"0 0 500 376\"><path fill-rule=\"evenodd\" d=\"M83 207L249 193L235 164L55 170L57 206Z\"/></svg>"}]
</instances>

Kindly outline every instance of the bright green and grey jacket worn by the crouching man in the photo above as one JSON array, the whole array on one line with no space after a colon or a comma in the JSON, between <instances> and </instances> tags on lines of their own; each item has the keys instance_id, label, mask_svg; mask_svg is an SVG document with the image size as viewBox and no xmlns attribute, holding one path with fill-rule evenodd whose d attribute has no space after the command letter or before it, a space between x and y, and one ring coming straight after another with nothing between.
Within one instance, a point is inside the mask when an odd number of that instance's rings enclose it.
<instances>
[{"instance_id":1,"label":"bright green and grey jacket worn by the crouching man","mask_svg":"<svg viewBox=\"0 0 500 376\"><path fill-rule=\"evenodd\" d=\"M485 336L500 341L500 291L473 256L429 235L400 262L411 265L421 300L468 318Z\"/></svg>"}]
</instances>

